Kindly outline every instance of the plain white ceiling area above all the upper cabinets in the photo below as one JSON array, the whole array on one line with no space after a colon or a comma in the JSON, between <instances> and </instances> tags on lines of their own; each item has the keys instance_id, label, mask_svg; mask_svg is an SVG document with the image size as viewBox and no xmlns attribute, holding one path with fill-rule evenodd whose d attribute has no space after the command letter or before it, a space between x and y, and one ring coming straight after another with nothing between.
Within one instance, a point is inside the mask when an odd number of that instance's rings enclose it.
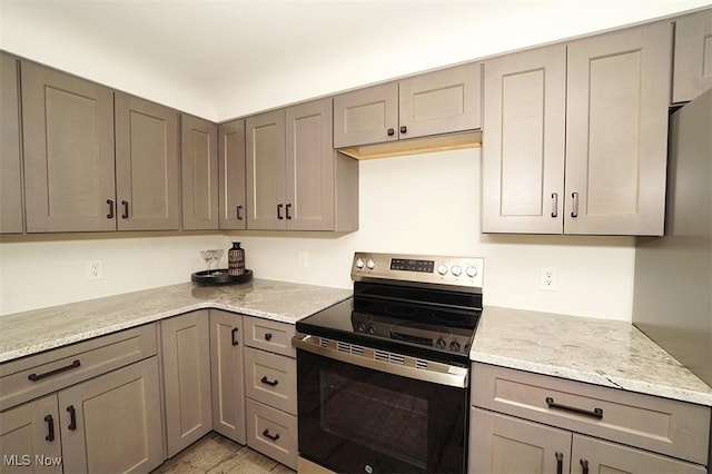
<instances>
[{"instance_id":1,"label":"plain white ceiling area above all the upper cabinets","mask_svg":"<svg viewBox=\"0 0 712 474\"><path fill-rule=\"evenodd\" d=\"M0 47L224 120L702 0L0 0Z\"/></svg>"}]
</instances>

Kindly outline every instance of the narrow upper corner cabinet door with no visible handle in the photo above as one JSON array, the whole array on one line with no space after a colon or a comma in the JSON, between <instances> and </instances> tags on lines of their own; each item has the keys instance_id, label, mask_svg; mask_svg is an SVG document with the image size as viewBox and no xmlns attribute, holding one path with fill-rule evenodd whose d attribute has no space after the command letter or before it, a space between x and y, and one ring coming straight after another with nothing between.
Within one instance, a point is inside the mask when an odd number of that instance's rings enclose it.
<instances>
[{"instance_id":1,"label":"narrow upper corner cabinet door with no visible handle","mask_svg":"<svg viewBox=\"0 0 712 474\"><path fill-rule=\"evenodd\" d=\"M218 126L180 117L182 228L218 228Z\"/></svg>"}]
</instances>

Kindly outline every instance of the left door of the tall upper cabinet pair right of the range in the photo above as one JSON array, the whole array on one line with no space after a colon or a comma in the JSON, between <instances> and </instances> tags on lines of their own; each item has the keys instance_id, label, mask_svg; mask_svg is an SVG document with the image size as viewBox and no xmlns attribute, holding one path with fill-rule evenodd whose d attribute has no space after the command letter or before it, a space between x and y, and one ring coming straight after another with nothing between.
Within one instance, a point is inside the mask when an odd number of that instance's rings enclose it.
<instances>
[{"instance_id":1,"label":"left door of the tall upper cabinet pair right of the range","mask_svg":"<svg viewBox=\"0 0 712 474\"><path fill-rule=\"evenodd\" d=\"M566 47L486 61L484 97L482 230L561 234Z\"/></svg>"}]
</instances>

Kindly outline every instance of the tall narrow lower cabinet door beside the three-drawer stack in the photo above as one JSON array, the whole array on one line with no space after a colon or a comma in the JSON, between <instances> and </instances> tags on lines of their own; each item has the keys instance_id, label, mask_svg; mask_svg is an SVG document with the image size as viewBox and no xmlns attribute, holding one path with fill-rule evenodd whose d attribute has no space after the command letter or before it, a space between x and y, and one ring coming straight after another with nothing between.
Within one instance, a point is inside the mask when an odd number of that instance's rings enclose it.
<instances>
[{"instance_id":1,"label":"tall narrow lower cabinet door beside the three-drawer stack","mask_svg":"<svg viewBox=\"0 0 712 474\"><path fill-rule=\"evenodd\" d=\"M245 433L243 316L210 309L212 428L240 444Z\"/></svg>"}]
</instances>

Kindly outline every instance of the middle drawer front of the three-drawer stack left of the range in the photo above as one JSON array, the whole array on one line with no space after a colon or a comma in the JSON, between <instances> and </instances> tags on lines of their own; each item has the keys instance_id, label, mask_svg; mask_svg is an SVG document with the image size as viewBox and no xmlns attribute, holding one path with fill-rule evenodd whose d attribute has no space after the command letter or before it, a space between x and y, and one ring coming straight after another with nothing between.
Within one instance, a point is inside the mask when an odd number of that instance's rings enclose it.
<instances>
[{"instance_id":1,"label":"middle drawer front of the three-drawer stack left of the range","mask_svg":"<svg viewBox=\"0 0 712 474\"><path fill-rule=\"evenodd\" d=\"M297 414L297 362L264 350L245 348L245 393L283 412Z\"/></svg>"}]
</instances>

